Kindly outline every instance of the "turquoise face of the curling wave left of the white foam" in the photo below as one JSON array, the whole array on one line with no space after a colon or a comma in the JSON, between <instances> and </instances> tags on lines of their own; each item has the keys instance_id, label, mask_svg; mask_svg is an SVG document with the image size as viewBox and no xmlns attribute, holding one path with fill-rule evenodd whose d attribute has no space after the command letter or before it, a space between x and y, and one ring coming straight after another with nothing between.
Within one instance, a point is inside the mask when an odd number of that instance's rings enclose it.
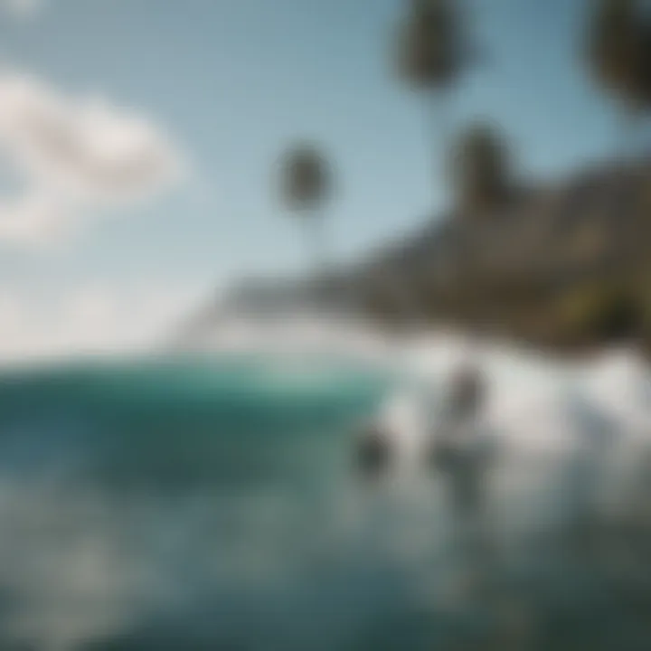
<instances>
[{"instance_id":1,"label":"turquoise face of the curling wave left of the white foam","mask_svg":"<svg viewBox=\"0 0 651 651\"><path fill-rule=\"evenodd\" d=\"M14 373L0 379L0 466L156 490L313 481L386 386L247 357Z\"/></svg>"}]
</instances>

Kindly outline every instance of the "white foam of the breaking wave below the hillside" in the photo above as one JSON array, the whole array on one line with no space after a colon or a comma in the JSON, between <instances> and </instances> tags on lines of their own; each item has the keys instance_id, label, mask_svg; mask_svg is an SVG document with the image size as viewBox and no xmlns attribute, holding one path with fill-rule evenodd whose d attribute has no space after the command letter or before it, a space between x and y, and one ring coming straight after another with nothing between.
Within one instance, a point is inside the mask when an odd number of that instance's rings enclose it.
<instances>
[{"instance_id":1,"label":"white foam of the breaking wave below the hillside","mask_svg":"<svg viewBox=\"0 0 651 651\"><path fill-rule=\"evenodd\" d=\"M477 344L449 332L392 335L354 318L308 313L233 318L214 333L211 347L322 360L335 355L401 376L399 391L382 405L380 417L399 432L402 458L413 457L430 427L433 397L468 358L488 381L486 424L521 452L567 454L576 448L584 435L570 404L578 399L584 412L609 418L622 441L651 439L648 369L628 351L604 354L593 363L561 363L505 343Z\"/></svg>"}]
</instances>

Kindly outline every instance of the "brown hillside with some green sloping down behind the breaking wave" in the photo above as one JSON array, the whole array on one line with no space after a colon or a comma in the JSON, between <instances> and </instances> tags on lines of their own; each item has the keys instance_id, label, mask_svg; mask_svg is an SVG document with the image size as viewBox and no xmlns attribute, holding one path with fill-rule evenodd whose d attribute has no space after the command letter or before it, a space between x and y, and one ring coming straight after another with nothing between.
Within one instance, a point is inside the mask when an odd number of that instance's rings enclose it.
<instances>
[{"instance_id":1,"label":"brown hillside with some green sloping down behind the breaking wave","mask_svg":"<svg viewBox=\"0 0 651 651\"><path fill-rule=\"evenodd\" d=\"M599 165L483 212L439 216L327 278L233 288L213 312L325 307L557 352L651 348L650 253L651 162Z\"/></svg>"}]
</instances>

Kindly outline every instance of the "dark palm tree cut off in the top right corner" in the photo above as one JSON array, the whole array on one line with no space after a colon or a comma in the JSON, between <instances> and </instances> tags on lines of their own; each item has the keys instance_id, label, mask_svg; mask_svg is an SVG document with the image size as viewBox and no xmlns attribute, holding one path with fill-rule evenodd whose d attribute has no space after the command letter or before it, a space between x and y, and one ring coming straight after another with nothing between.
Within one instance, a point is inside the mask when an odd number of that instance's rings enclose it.
<instances>
[{"instance_id":1,"label":"dark palm tree cut off in the top right corner","mask_svg":"<svg viewBox=\"0 0 651 651\"><path fill-rule=\"evenodd\" d=\"M594 0L594 5L588 59L599 85L621 104L626 149L651 106L651 23L638 0Z\"/></svg>"}]
</instances>

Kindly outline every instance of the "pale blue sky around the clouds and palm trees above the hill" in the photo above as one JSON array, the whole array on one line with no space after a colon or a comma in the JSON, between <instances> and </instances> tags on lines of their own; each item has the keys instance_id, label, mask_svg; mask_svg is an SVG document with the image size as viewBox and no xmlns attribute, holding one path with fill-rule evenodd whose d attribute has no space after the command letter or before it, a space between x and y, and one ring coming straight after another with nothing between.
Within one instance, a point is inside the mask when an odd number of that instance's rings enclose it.
<instances>
[{"instance_id":1,"label":"pale blue sky around the clouds and palm trees above the hill","mask_svg":"<svg viewBox=\"0 0 651 651\"><path fill-rule=\"evenodd\" d=\"M5 287L40 313L80 284L198 297L242 272L297 269L305 254L271 173L296 138L335 164L338 257L445 205L427 109L392 75L404 0L33 0L16 11L21 1L4 0L0 16L5 73L137 115L184 166L146 201L84 203L55 246L0 241ZM579 56L589 0L467 2L486 61L459 88L455 121L498 122L523 175L605 156L616 114Z\"/></svg>"}]
</instances>

